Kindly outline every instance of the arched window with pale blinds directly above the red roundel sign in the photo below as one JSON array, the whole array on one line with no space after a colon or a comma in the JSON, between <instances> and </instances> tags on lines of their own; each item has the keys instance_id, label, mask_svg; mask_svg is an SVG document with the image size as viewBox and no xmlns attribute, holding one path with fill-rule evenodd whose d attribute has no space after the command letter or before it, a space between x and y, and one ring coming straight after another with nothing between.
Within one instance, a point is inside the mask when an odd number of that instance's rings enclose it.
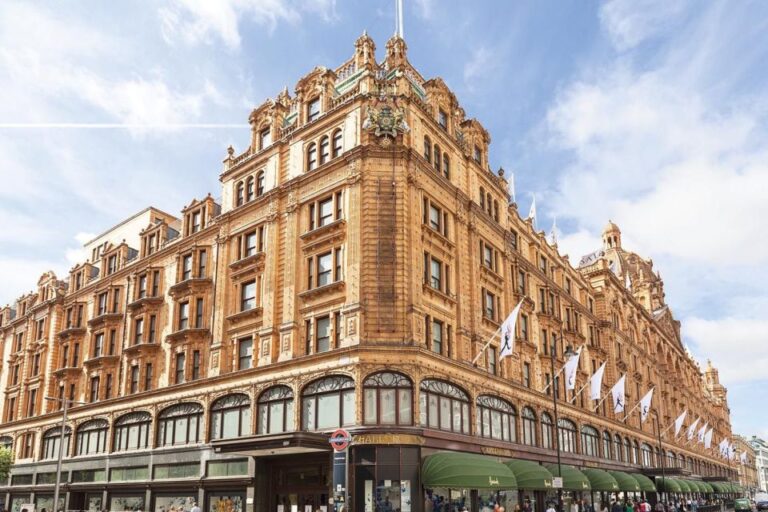
<instances>
[{"instance_id":1,"label":"arched window with pale blinds directly above the red roundel sign","mask_svg":"<svg viewBox=\"0 0 768 512\"><path fill-rule=\"evenodd\" d=\"M324 430L355 424L355 381L336 375L310 383L301 393L301 428Z\"/></svg>"}]
</instances>

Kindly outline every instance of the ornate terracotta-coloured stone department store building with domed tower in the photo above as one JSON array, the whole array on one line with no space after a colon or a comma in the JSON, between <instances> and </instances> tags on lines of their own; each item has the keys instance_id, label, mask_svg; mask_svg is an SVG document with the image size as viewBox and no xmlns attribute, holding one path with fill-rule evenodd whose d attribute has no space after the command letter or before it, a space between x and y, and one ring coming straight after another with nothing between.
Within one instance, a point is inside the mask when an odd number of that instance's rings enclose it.
<instances>
[{"instance_id":1,"label":"ornate terracotta-coloured stone department store building with domed tower","mask_svg":"<svg viewBox=\"0 0 768 512\"><path fill-rule=\"evenodd\" d=\"M65 400L68 509L317 508L337 427L354 437L356 511L376 490L420 512L435 451L553 462L558 439L579 467L735 478L668 429L687 410L685 428L731 435L717 370L685 351L653 263L609 223L572 265L510 203L489 133L404 40L377 61L364 34L249 121L221 204L144 210L0 310L13 512L52 508ZM521 300L514 354L500 360L496 337L473 365ZM654 387L649 420L595 410L558 379L553 425L542 390L567 346L583 347L579 387L603 362L604 394L621 375L629 406Z\"/></svg>"}]
</instances>

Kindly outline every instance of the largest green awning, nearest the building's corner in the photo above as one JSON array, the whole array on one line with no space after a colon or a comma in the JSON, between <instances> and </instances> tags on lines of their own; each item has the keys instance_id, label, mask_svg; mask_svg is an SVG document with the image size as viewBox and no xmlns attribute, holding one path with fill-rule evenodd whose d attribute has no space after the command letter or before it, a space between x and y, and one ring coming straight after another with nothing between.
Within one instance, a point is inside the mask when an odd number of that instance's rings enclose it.
<instances>
[{"instance_id":1,"label":"largest green awning, nearest the building's corner","mask_svg":"<svg viewBox=\"0 0 768 512\"><path fill-rule=\"evenodd\" d=\"M421 464L421 480L427 487L466 489L517 489L512 471L491 457L474 453L440 452Z\"/></svg>"}]
</instances>

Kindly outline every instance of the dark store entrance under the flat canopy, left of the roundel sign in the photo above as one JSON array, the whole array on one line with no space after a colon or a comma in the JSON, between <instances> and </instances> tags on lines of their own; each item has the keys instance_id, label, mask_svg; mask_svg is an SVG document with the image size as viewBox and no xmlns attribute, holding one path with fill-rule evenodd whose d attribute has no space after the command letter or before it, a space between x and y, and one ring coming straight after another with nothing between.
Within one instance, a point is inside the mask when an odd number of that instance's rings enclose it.
<instances>
[{"instance_id":1,"label":"dark store entrance under the flat canopy, left of the roundel sign","mask_svg":"<svg viewBox=\"0 0 768 512\"><path fill-rule=\"evenodd\" d=\"M327 512L331 465L327 453L279 457L267 463L271 512Z\"/></svg>"}]
</instances>

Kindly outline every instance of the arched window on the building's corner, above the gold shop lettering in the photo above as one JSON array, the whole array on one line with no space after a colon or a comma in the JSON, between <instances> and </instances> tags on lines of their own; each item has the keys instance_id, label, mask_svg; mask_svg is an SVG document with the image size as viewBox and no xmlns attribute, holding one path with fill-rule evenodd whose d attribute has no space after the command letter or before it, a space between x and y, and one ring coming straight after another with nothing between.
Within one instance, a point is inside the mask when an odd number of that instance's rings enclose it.
<instances>
[{"instance_id":1,"label":"arched window on the building's corner, above the gold shop lettering","mask_svg":"<svg viewBox=\"0 0 768 512\"><path fill-rule=\"evenodd\" d=\"M363 423L412 425L413 384L405 375L380 372L363 382Z\"/></svg>"}]
</instances>

